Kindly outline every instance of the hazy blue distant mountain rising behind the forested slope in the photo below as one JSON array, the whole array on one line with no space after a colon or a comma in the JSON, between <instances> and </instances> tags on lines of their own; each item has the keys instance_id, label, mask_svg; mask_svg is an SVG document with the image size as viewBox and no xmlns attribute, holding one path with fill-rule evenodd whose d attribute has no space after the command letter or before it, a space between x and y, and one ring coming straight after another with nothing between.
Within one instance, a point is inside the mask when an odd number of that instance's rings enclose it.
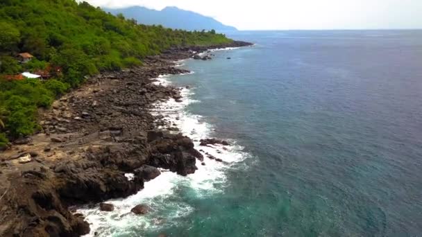
<instances>
[{"instance_id":1,"label":"hazy blue distant mountain rising behind the forested slope","mask_svg":"<svg viewBox=\"0 0 422 237\"><path fill-rule=\"evenodd\" d=\"M212 17L205 17L196 12L182 10L176 7L167 7L162 10L151 10L140 6L130 8L103 8L105 12L111 12L113 15L119 13L126 18L133 18L140 24L162 25L167 28L183 30L237 30L233 26L226 26Z\"/></svg>"}]
</instances>

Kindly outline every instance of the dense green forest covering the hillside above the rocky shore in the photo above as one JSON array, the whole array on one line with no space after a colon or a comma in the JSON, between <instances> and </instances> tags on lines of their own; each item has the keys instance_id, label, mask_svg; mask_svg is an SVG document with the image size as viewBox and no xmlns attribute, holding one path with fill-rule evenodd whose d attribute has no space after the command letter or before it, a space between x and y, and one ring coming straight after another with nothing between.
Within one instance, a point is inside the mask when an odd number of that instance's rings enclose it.
<instances>
[{"instance_id":1,"label":"dense green forest covering the hillside above the rocky shore","mask_svg":"<svg viewBox=\"0 0 422 237\"><path fill-rule=\"evenodd\" d=\"M142 64L171 46L228 43L224 35L137 24L123 15L74 0L0 1L0 147L38 129L40 107L86 76ZM26 63L18 53L34 58ZM48 71L49 80L16 80L23 71ZM22 78L21 78L22 79Z\"/></svg>"}]
</instances>

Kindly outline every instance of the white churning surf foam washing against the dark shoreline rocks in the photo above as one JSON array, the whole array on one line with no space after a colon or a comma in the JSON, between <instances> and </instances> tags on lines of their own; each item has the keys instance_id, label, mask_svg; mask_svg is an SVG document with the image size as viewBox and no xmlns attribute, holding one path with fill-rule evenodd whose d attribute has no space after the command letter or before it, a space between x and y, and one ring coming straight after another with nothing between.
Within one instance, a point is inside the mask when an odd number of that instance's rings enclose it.
<instances>
[{"instance_id":1,"label":"white churning surf foam washing against the dark shoreline rocks","mask_svg":"<svg viewBox=\"0 0 422 237\"><path fill-rule=\"evenodd\" d=\"M155 83L171 85L169 76L160 76ZM209 195L223 191L226 184L225 170L230 166L244 160L248 155L242 152L242 147L230 141L232 146L199 146L199 140L212 137L213 126L206 123L199 115L189 114L185 107L191 103L200 103L191 97L194 89L182 89L183 101L177 103L169 99L165 103L158 103L156 109L151 113L162 114L171 124L176 124L180 132L194 140L196 149L201 150L204 155L205 166L201 161L196 162L198 170L192 175L183 177L176 173L162 170L162 174L155 179L146 182L144 189L131 195L128 198L109 200L115 206L112 212L99 211L99 207L85 207L78 212L83 213L86 220L91 224L91 232L87 236L94 236L97 231L99 236L111 236L115 234L126 234L142 236L143 231L154 231L156 229L177 225L178 218L187 216L194 207L178 197L180 190L189 191L189 195L195 198L206 198ZM209 159L205 153L220 158L223 163ZM131 175L126 175L128 179ZM178 193L175 193L178 192ZM135 216L130 209L137 204L147 204L151 212L145 216Z\"/></svg>"}]
</instances>

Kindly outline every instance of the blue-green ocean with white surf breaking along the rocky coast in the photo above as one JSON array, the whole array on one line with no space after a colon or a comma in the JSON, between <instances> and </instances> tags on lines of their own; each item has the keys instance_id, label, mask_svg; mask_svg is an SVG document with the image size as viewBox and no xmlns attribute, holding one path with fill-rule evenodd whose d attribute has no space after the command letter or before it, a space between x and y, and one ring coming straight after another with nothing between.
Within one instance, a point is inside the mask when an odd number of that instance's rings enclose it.
<instances>
[{"instance_id":1,"label":"blue-green ocean with white surf breaking along the rocky coast","mask_svg":"<svg viewBox=\"0 0 422 237\"><path fill-rule=\"evenodd\" d=\"M421 236L422 30L228 36L255 45L178 62L193 73L156 83L189 86L183 103L154 111L224 162L82 209L90 235Z\"/></svg>"}]
</instances>

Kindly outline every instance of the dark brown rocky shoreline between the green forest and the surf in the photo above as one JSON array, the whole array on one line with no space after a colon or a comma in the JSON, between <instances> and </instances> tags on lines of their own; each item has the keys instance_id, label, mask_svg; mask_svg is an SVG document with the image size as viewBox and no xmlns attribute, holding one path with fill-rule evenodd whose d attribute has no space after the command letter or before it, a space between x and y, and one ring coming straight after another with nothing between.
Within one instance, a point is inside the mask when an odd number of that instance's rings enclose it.
<instances>
[{"instance_id":1,"label":"dark brown rocky shoreline between the green forest and the surf","mask_svg":"<svg viewBox=\"0 0 422 237\"><path fill-rule=\"evenodd\" d=\"M93 76L40 112L42 130L0 153L0 236L81 236L90 226L75 205L133 195L159 175L154 168L194 173L203 156L192 140L150 113L154 103L182 100L180 90L153 79L188 73L176 60L250 45L174 48L142 67Z\"/></svg>"}]
</instances>

